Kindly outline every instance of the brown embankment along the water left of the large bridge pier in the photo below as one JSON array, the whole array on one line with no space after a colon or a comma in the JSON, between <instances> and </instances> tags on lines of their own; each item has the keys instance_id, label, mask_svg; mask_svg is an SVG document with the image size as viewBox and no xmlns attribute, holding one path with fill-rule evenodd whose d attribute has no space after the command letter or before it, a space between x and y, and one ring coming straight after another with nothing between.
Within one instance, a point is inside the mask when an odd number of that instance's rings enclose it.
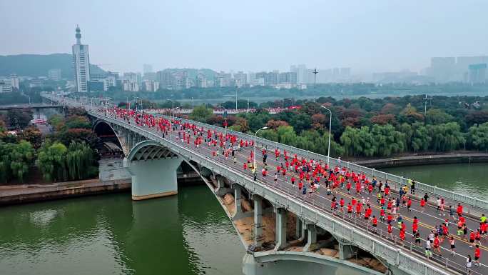
<instances>
[{"instance_id":1,"label":"brown embankment along the water left of the large bridge pier","mask_svg":"<svg viewBox=\"0 0 488 275\"><path fill-rule=\"evenodd\" d=\"M0 185L0 205L24 204L131 190L131 179L66 181L54 184Z\"/></svg>"}]
</instances>

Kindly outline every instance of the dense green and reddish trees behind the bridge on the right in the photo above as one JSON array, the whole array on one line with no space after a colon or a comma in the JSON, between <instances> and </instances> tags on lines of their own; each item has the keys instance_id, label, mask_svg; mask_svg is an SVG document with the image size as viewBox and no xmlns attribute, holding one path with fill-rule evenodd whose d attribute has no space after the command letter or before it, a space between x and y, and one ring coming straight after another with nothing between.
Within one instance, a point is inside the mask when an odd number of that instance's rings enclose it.
<instances>
[{"instance_id":1,"label":"dense green and reddish trees behind the bridge on the right","mask_svg":"<svg viewBox=\"0 0 488 275\"><path fill-rule=\"evenodd\" d=\"M333 156L387 157L397 154L488 151L488 96L422 96L385 99L321 97L299 101L300 109L271 115L264 109L228 116L229 129L327 154L328 111L332 111ZM422 110L422 111L420 111ZM223 126L223 116L197 106L190 119Z\"/></svg>"}]
</instances>

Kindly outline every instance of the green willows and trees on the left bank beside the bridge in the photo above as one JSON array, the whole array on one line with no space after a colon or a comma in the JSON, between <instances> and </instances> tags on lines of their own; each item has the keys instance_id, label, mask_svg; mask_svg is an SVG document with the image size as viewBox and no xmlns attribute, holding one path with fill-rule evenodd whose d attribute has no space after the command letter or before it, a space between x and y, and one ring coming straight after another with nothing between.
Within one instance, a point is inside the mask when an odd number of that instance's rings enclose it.
<instances>
[{"instance_id":1,"label":"green willows and trees on the left bank beside the bridge","mask_svg":"<svg viewBox=\"0 0 488 275\"><path fill-rule=\"evenodd\" d=\"M26 125L16 134L9 134L0 119L1 182L24 182L34 166L45 181L80 180L98 175L94 149L98 138L84 111L71 109L66 118L54 115L49 122L54 133L43 137L39 129Z\"/></svg>"}]
</instances>

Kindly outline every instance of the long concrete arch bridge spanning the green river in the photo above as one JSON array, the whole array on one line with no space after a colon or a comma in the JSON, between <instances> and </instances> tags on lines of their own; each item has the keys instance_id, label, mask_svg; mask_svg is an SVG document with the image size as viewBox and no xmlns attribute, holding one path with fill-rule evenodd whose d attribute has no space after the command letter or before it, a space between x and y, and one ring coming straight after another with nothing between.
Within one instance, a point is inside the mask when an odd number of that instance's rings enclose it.
<instances>
[{"instance_id":1,"label":"long concrete arch bridge spanning the green river","mask_svg":"<svg viewBox=\"0 0 488 275\"><path fill-rule=\"evenodd\" d=\"M452 221L447 229L449 236L454 237L454 256L450 254L447 239L439 244L440 255L434 251L431 257L425 256L427 235L435 226L449 219L448 211L437 213L437 197L454 208L458 203L462 204L465 224L467 229L472 230L479 227L479 216L488 209L487 201L417 182L415 194L410 195L413 201L410 211L403 206L397 211L407 226L406 236L401 238L397 221L392 222L394 226L390 234L387 222L378 221L376 227L372 226L371 217L365 219L364 211L361 211L360 216L350 216L347 211L341 211L340 207L331 209L332 198L336 198L336 201L343 198L347 205L352 199L362 201L363 197L370 196L371 201L365 201L364 207L370 204L372 215L379 217L380 205L375 199L377 192L368 194L367 190L360 190L361 193L356 194L355 190L348 192L340 186L329 191L324 188L322 179L319 191L303 194L297 187L300 171L287 169L285 176L279 173L276 177L274 173L276 167L285 161L283 153L286 150L290 159L305 161L303 167L309 163L325 166L328 162L331 169L337 167L338 170L364 175L365 179L375 177L378 181L388 182L392 198L396 198L397 191L408 184L407 179L400 176L338 159L328 159L327 156L248 134L227 130L228 135L224 135L225 129L196 121L158 116L151 118L157 121L154 126L151 121L144 121L149 117L146 114L118 112L106 105L81 105L71 99L43 96L46 100L62 102L68 106L83 106L93 120L95 131L113 131L126 156L124 166L131 173L133 200L177 194L178 166L182 162L191 166L224 206L223 209L238 231L247 249L243 258L243 272L246 275L295 271L331 274L338 272L339 266L347 270L345 274L467 274L468 254L473 257L469 272L488 274L485 265L488 259L487 246L480 246L481 264L474 266L474 248L469 247L469 241L462 239L462 235L456 234L457 225ZM205 142L194 143L199 139L205 139ZM234 141L238 144L241 140L247 144L235 149L234 157L221 154L222 148L216 143L219 141L228 145ZM258 154L251 158L253 145L258 147ZM223 147L227 148L226 145ZM266 161L261 161L261 149L269 151L270 156ZM280 149L280 156L275 157L275 149ZM214 154L216 151L219 154ZM244 164L252 164L253 161L257 161L257 175L243 168ZM263 176L260 171L265 163L270 172ZM295 177L297 183L291 184L291 177ZM425 194L429 196L428 203L421 207L419 201ZM418 219L417 226L422 239L420 244L416 244L410 234L414 218ZM485 244L486 236L481 241Z\"/></svg>"}]
</instances>

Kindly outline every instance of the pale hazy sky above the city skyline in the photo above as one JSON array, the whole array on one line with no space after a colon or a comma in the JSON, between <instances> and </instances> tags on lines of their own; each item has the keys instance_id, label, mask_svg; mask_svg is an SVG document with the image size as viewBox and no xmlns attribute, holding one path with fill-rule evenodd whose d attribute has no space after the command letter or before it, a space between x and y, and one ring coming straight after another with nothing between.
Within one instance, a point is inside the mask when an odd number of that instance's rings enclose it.
<instances>
[{"instance_id":1,"label":"pale hazy sky above the city skyline","mask_svg":"<svg viewBox=\"0 0 488 275\"><path fill-rule=\"evenodd\" d=\"M488 54L485 0L0 0L0 55L71 53L92 64L288 70L419 70L431 56Z\"/></svg>"}]
</instances>

